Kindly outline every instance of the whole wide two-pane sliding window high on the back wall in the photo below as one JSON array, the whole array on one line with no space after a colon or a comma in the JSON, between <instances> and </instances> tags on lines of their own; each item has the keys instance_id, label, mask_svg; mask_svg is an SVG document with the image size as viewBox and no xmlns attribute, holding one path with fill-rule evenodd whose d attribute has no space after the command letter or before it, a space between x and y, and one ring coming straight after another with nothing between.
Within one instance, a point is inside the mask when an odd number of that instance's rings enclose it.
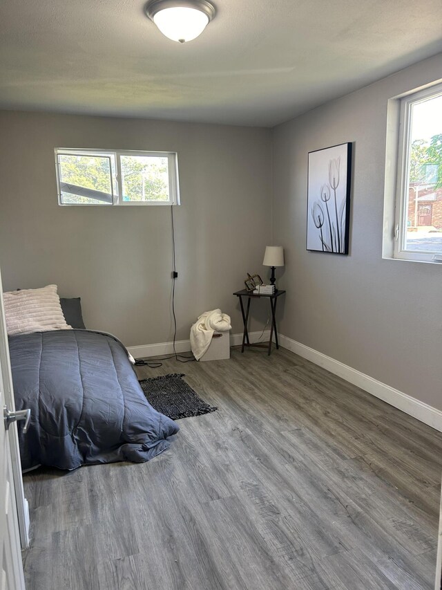
<instances>
[{"instance_id":1,"label":"whole wide two-pane sliding window high on the back wall","mask_svg":"<svg viewBox=\"0 0 442 590\"><path fill-rule=\"evenodd\" d=\"M60 205L177 205L177 154L55 149Z\"/></svg>"}]
</instances>

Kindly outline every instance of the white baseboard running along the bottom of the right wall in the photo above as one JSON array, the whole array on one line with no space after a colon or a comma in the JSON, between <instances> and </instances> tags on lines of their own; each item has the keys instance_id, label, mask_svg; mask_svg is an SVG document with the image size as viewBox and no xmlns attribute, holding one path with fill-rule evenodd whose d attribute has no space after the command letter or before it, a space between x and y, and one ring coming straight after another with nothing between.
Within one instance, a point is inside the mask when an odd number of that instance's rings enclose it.
<instances>
[{"instance_id":1,"label":"white baseboard running along the bottom of the right wall","mask_svg":"<svg viewBox=\"0 0 442 590\"><path fill-rule=\"evenodd\" d=\"M343 362L335 360L315 349L311 349L305 346L305 344L287 338L287 336L278 335L278 338L280 345L285 349L302 356L302 358L311 360L315 365L327 369L330 373L345 379L357 387L361 387L361 389L364 389L364 391L367 391L376 398L380 398L388 404L401 409L405 414L410 414L410 416L442 432L442 412L440 409L416 400L416 398L412 398L412 396L404 394L402 391L390 387L390 385L385 385L385 383L365 375L361 371L356 371L356 369L344 365Z\"/></svg>"}]
</instances>

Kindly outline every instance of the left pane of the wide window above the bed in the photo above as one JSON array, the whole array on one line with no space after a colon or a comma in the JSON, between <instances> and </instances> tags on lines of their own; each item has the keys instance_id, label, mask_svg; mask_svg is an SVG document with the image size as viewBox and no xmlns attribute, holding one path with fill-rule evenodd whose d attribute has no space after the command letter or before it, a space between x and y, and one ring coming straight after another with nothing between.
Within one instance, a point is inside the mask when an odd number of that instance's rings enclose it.
<instances>
[{"instance_id":1,"label":"left pane of the wide window above the bed","mask_svg":"<svg viewBox=\"0 0 442 590\"><path fill-rule=\"evenodd\" d=\"M111 158L59 154L63 205L112 205Z\"/></svg>"}]
</instances>

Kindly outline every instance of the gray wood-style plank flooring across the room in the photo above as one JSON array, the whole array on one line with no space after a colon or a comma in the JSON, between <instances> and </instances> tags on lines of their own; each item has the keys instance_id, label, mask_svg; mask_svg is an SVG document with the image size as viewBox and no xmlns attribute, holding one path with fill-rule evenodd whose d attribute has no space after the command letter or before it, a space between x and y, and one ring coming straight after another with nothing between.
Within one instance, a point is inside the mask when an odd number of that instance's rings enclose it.
<instances>
[{"instance_id":1,"label":"gray wood-style plank flooring across the room","mask_svg":"<svg viewBox=\"0 0 442 590\"><path fill-rule=\"evenodd\" d=\"M149 463L24 476L28 590L427 590L442 435L280 349L168 360L218 412Z\"/></svg>"}]
</instances>

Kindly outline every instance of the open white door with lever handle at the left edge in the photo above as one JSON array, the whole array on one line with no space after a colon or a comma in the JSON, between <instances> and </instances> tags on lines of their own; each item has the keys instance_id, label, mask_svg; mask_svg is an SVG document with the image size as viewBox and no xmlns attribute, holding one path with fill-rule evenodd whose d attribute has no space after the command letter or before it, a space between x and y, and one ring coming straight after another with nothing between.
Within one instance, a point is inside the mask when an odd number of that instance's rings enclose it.
<instances>
[{"instance_id":1,"label":"open white door with lever handle at the left edge","mask_svg":"<svg viewBox=\"0 0 442 590\"><path fill-rule=\"evenodd\" d=\"M3 290L0 277L0 358L5 358L8 342L4 331ZM9 360L9 356L7 356ZM9 437L3 418L5 390L9 387L10 367L0 362L0 590L24 590L21 563L19 519L15 500Z\"/></svg>"}]
</instances>

